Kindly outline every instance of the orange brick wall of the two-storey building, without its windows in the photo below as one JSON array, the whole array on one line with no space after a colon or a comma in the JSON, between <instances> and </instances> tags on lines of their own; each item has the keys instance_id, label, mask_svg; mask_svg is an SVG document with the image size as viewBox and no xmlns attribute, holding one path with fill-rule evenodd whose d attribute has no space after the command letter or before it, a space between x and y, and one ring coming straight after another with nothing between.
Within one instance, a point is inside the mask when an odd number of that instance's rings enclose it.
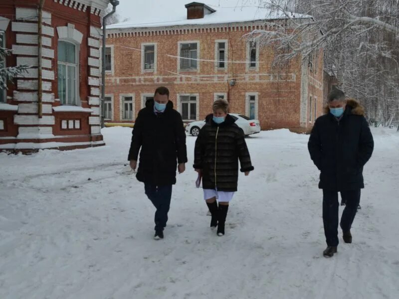
<instances>
[{"instance_id":1,"label":"orange brick wall of the two-storey building, without its windows","mask_svg":"<svg viewBox=\"0 0 399 299\"><path fill-rule=\"evenodd\" d=\"M199 75L227 75L228 78L241 77L242 75L256 74L295 74L295 82L290 81L271 81L257 82L248 81L244 78L238 78L236 84L230 87L227 81L212 82L192 82L190 78L186 78L185 83L177 83L177 77L168 73L172 71L177 73L177 58L168 57L167 55L178 55L178 41L200 41L200 59L215 60L216 39L229 39L228 43L228 60L246 61L246 43L242 35L247 31L230 31L230 32L206 32L206 33L185 33L171 35L153 35L153 36L124 36L109 37L107 45L114 46L114 75L107 75L106 94L114 95L114 119L119 122L119 94L135 94L135 114L141 108L141 93L153 93L156 87L164 85L170 89L170 99L176 105L177 94L196 93L199 94L200 101L200 119L206 114L211 113L211 104L213 102L213 93L229 93L230 111L233 113L245 113L245 93L258 92L258 117L261 127L264 130L276 128L301 129L300 125L300 97L301 97L301 65L300 59L295 59L284 67L272 67L274 53L271 48L261 48L259 61L265 62L259 64L259 70L249 70L245 68L245 64L228 64L227 71L215 70L214 62L198 61L200 72L180 72L183 75L199 76ZM141 72L141 52L133 49L124 48L132 47L141 49L141 43L157 43L157 73L155 76L161 76L162 82L154 78L153 73ZM322 54L319 57L318 71L322 74ZM144 77L143 82L136 82L135 77ZM251 76L252 77L252 76ZM318 79L322 81L322 79ZM155 81L155 82L154 82ZM311 88L309 88L311 89ZM320 91L314 91L319 94ZM320 100L322 96L319 97Z\"/></svg>"}]
</instances>

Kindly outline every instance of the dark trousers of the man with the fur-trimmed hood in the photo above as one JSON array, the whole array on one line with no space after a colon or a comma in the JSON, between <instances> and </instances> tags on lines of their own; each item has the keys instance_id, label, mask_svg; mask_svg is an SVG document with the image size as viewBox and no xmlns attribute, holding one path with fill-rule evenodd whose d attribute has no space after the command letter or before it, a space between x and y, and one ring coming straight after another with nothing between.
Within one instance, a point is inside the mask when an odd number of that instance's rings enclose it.
<instances>
[{"instance_id":1,"label":"dark trousers of the man with the fur-trimmed hood","mask_svg":"<svg viewBox=\"0 0 399 299\"><path fill-rule=\"evenodd\" d=\"M360 189L341 191L341 197L346 202L341 217L341 228L344 232L351 229L360 203ZM323 224L327 246L338 246L338 192L323 189Z\"/></svg>"}]
</instances>

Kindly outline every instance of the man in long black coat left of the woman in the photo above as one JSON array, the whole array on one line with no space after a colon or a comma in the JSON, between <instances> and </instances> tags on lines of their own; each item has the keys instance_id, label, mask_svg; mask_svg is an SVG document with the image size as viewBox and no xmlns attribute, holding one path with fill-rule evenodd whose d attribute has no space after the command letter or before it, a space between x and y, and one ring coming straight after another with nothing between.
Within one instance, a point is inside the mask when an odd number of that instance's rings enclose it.
<instances>
[{"instance_id":1,"label":"man in long black coat left of the woman","mask_svg":"<svg viewBox=\"0 0 399 299\"><path fill-rule=\"evenodd\" d=\"M163 239L172 185L176 184L176 167L183 173L187 162L182 116L173 109L166 87L157 88L154 100L147 101L140 110L132 134L128 160L135 170L141 148L136 177L144 182L146 195L157 209L154 239Z\"/></svg>"}]
</instances>

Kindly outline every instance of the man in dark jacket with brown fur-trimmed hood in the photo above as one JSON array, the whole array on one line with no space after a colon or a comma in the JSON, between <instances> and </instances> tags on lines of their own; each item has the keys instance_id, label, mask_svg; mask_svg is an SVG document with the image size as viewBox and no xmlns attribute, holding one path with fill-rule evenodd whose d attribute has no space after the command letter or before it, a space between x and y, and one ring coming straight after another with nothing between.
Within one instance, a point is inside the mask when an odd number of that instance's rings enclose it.
<instances>
[{"instance_id":1,"label":"man in dark jacket with brown fur-trimmed hood","mask_svg":"<svg viewBox=\"0 0 399 299\"><path fill-rule=\"evenodd\" d=\"M323 189L323 223L326 257L338 246L338 192L346 202L340 226L345 243L352 243L351 226L364 188L363 166L370 159L374 142L363 107L346 100L341 90L328 95L326 114L319 117L309 138L310 157L319 168L319 188Z\"/></svg>"}]
</instances>

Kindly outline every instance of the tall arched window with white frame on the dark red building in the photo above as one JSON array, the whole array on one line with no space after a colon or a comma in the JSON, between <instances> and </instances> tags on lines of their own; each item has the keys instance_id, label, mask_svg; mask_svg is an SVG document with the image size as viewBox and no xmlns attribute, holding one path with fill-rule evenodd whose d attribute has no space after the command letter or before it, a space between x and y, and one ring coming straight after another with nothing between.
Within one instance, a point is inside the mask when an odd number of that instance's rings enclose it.
<instances>
[{"instance_id":1,"label":"tall arched window with white frame on the dark red building","mask_svg":"<svg viewBox=\"0 0 399 299\"><path fill-rule=\"evenodd\" d=\"M76 46L58 42L58 97L61 104L76 105L78 67Z\"/></svg>"}]
</instances>

